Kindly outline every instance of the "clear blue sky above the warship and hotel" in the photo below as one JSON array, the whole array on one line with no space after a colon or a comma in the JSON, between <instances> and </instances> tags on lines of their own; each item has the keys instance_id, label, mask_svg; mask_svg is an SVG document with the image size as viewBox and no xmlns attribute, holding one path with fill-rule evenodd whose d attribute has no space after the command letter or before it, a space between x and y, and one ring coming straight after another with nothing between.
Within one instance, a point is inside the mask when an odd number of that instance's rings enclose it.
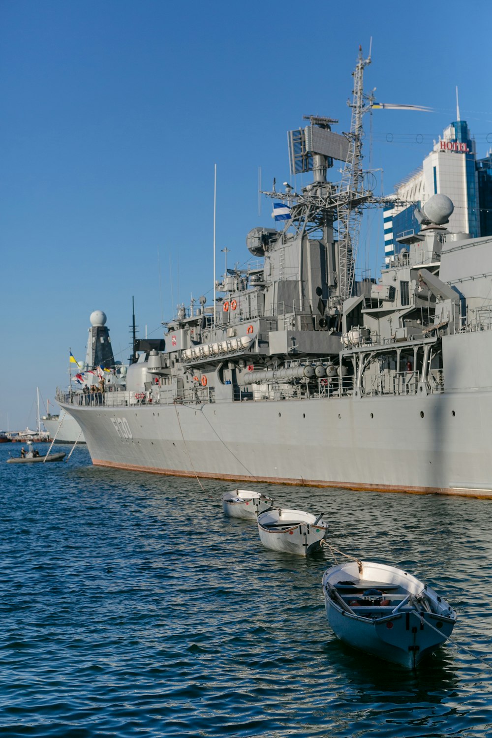
<instances>
[{"instance_id":1,"label":"clear blue sky above the warship and hotel","mask_svg":"<svg viewBox=\"0 0 492 738\"><path fill-rule=\"evenodd\" d=\"M36 386L46 401L66 384L94 309L126 359L132 295L154 337L173 303L210 303L214 164L218 251L243 264L246 232L272 222L258 167L264 187L289 179L285 132L303 114L349 128L370 36L366 88L436 110L373 114L384 193L454 120L456 85L485 156L490 25L488 1L1 0L0 428L7 413L10 430L35 425ZM361 244L373 271L382 235L378 214Z\"/></svg>"}]
</instances>

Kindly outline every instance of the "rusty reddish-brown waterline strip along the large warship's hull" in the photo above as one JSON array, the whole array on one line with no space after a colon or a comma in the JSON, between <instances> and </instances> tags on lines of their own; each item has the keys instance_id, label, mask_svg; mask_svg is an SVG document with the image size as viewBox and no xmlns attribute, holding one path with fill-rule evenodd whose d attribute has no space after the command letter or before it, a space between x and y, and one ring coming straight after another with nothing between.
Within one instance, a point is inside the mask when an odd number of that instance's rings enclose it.
<instances>
[{"instance_id":1,"label":"rusty reddish-brown waterline strip along the large warship's hull","mask_svg":"<svg viewBox=\"0 0 492 738\"><path fill-rule=\"evenodd\" d=\"M283 477L256 477L252 475L212 474L211 472L186 472L182 469L161 469L159 466L139 466L117 461L94 459L94 466L110 466L113 469L127 469L130 472L149 472L169 477L200 477L201 479L224 479L234 482L266 482L268 484L291 484L301 487L338 487L357 492L400 492L406 494L448 494L454 497L476 497L479 500L492 500L491 490L454 489L451 487L398 487L392 484L364 484L350 482L331 482L320 479L285 479Z\"/></svg>"}]
</instances>

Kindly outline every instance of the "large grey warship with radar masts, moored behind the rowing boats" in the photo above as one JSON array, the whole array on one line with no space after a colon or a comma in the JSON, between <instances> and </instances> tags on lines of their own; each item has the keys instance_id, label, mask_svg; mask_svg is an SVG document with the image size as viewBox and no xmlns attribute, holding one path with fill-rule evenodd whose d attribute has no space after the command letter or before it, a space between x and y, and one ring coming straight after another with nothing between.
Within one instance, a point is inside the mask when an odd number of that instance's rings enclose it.
<instances>
[{"instance_id":1,"label":"large grey warship with radar masts, moored behind the rowing boats","mask_svg":"<svg viewBox=\"0 0 492 738\"><path fill-rule=\"evenodd\" d=\"M58 393L95 465L492 497L492 238L449 232L440 193L378 280L355 278L361 212L383 204L362 169L368 63L350 132L314 116L290 132L291 173L313 182L264 193L283 228L247 235L260 263L136 340L125 384Z\"/></svg>"}]
</instances>

